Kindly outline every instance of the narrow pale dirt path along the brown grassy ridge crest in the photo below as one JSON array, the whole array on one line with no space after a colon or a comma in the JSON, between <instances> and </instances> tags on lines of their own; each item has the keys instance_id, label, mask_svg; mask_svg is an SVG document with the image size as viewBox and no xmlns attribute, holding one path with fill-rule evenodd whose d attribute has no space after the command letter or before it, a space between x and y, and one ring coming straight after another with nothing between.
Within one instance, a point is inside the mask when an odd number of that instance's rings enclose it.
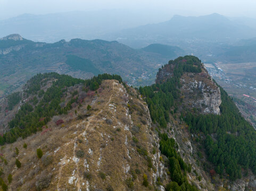
<instances>
[{"instance_id":1,"label":"narrow pale dirt path along the brown grassy ridge crest","mask_svg":"<svg viewBox=\"0 0 256 191\"><path fill-rule=\"evenodd\" d=\"M69 144L71 144L71 143L74 144L74 146L73 146L73 157L72 157L72 159L75 159L75 158L76 158L76 148L77 148L76 142L77 142L77 140L78 140L78 137L84 136L84 135L86 134L86 131L87 131L87 129L88 129L88 127L89 127L91 121L92 121L97 115L101 114L102 111L109 105L109 103L110 103L110 101L111 101L111 98L112 98L112 96L113 96L113 94L114 94L114 84L115 84L115 82L112 81L112 93L111 93L111 95L110 95L110 98L109 98L108 102L106 102L105 106L104 106L100 111L98 111L98 112L96 113L96 115L90 117L88 121L82 121L82 123L76 124L76 126L79 127L80 125L87 123L87 125L85 126L85 131L83 131L82 133L80 133L79 135L77 135L76 138L73 139L72 141L70 141L70 142L68 142L68 143L65 143L65 147L67 147L67 146L68 146ZM72 125L72 126L73 126L73 125ZM72 126L71 126L71 127L72 127ZM65 149L65 147L64 147L64 152L67 151L67 149ZM75 161L74 161L74 162L75 162ZM75 182L75 184L76 184L77 190L80 191L80 190L81 190L81 183L80 183L80 180L81 180L82 177L80 177L80 175L79 175L78 162L75 162L75 163L76 163L76 172L75 172L75 174L74 174L73 176L76 177L76 182ZM65 164L68 164L67 154L65 154L63 160L61 161L61 167L60 167L60 169L59 169L59 175L58 175L59 180L58 180L58 183L57 183L57 190L59 190L59 191L60 191L60 180L61 180L61 178L62 178L62 168L63 168L63 166L65 166Z\"/></svg>"}]
</instances>

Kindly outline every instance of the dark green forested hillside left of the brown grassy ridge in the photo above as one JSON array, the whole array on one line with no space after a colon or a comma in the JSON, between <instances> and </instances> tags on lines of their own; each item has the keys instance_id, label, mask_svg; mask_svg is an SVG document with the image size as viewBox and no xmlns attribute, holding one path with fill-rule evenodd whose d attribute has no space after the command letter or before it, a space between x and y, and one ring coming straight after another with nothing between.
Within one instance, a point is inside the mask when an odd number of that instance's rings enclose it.
<instances>
[{"instance_id":1,"label":"dark green forested hillside left of the brown grassy ridge","mask_svg":"<svg viewBox=\"0 0 256 191\"><path fill-rule=\"evenodd\" d=\"M71 99L64 107L60 103L65 100L65 94L70 86L76 84L86 85L85 91L95 91L98 89L102 80L115 79L122 82L118 75L101 74L90 80L75 79L68 75L60 75L57 73L37 74L32 77L26 84L26 90L23 92L24 99L30 98L20 107L15 117L9 121L10 131L0 136L0 144L13 143L19 137L27 137L37 131L42 131L48 121L55 115L68 114L68 110L72 108L73 103L79 103L81 100ZM51 82L52 85L46 91L42 87ZM12 109L19 100L17 97L20 92L9 95L8 108ZM73 95L78 92L73 92ZM32 99L31 99L32 97ZM15 99L14 99L15 98Z\"/></svg>"}]
</instances>

